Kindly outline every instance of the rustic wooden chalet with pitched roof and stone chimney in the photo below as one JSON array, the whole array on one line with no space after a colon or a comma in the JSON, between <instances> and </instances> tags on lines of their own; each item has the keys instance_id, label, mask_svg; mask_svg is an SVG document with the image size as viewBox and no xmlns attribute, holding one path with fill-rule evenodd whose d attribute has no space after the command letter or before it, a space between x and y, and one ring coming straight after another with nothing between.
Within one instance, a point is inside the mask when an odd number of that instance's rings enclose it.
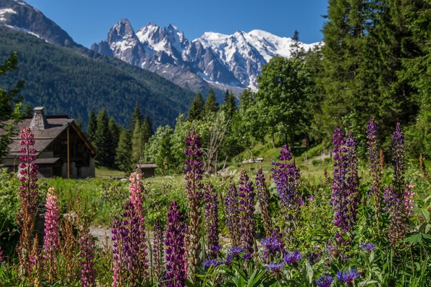
<instances>
[{"instance_id":1,"label":"rustic wooden chalet with pitched roof and stone chimney","mask_svg":"<svg viewBox=\"0 0 431 287\"><path fill-rule=\"evenodd\" d=\"M67 116L45 116L43 107L34 108L34 116L25 118L17 125L17 134L8 146L8 153L1 165L11 172L18 172L19 130L30 127L34 134L34 149L41 178L93 178L96 150L79 129L73 118Z\"/></svg>"}]
</instances>

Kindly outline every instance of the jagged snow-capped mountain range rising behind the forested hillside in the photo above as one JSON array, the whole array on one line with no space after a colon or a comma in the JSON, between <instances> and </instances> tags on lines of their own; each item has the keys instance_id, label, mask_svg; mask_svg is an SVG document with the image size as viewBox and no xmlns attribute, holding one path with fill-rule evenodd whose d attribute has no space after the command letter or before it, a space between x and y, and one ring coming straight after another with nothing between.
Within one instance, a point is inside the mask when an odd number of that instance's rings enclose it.
<instances>
[{"instance_id":1,"label":"jagged snow-capped mountain range rising behind the forested hillside","mask_svg":"<svg viewBox=\"0 0 431 287\"><path fill-rule=\"evenodd\" d=\"M257 75L273 56L290 56L291 38L262 30L231 35L205 32L189 41L174 25L148 23L134 32L127 19L92 50L156 72L195 92L207 82L222 89L257 89ZM308 50L319 43L304 44Z\"/></svg>"}]
</instances>

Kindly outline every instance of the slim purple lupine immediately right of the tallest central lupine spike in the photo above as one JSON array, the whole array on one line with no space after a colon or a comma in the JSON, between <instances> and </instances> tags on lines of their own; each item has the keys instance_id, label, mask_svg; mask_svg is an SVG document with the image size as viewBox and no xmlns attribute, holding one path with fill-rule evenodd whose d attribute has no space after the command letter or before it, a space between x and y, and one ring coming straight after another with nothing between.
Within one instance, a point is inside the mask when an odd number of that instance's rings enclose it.
<instances>
[{"instance_id":1,"label":"slim purple lupine immediately right of the tallest central lupine spike","mask_svg":"<svg viewBox=\"0 0 431 287\"><path fill-rule=\"evenodd\" d=\"M207 233L208 233L208 257L215 258L219 246L218 242L218 196L213 188L211 182L207 182L205 187L205 222L207 223ZM220 250L220 249L219 249Z\"/></svg>"}]
</instances>

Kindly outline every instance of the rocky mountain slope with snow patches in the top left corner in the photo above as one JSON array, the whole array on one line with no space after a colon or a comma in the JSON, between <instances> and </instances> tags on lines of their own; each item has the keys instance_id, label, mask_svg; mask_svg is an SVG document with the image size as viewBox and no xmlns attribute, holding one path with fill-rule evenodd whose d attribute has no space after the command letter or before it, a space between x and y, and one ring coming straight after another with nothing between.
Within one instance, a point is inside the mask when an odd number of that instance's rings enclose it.
<instances>
[{"instance_id":1,"label":"rocky mountain slope with snow patches in the top left corner","mask_svg":"<svg viewBox=\"0 0 431 287\"><path fill-rule=\"evenodd\" d=\"M0 0L0 25L27 32L49 43L66 47L78 45L59 25L21 0Z\"/></svg>"}]
</instances>

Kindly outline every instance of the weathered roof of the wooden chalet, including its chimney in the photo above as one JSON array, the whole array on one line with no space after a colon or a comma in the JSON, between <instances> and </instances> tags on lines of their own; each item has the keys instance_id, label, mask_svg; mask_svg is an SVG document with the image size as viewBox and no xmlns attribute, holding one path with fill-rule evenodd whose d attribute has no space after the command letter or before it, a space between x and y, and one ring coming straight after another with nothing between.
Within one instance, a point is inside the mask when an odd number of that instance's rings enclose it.
<instances>
[{"instance_id":1,"label":"weathered roof of the wooden chalet, including its chimney","mask_svg":"<svg viewBox=\"0 0 431 287\"><path fill-rule=\"evenodd\" d=\"M38 107L36 109L41 108ZM92 147L91 143L84 136L83 132L78 128L78 126L76 126L73 118L68 118L67 116L44 116L43 114L42 116L44 123L42 125L39 125L39 128L31 130L31 133L34 134L33 148L36 149L35 156L39 156L39 153L45 150L54 139L60 136L60 134L65 129L67 129L67 127L75 129L78 135L84 140L85 145L87 145L87 147L92 151L93 154L96 154L96 150L94 149L94 147ZM15 129L19 131L21 127L30 127L30 124L32 122L34 123L35 117L36 112L33 118L24 118L23 120L21 120L15 126ZM17 132L17 134L13 136L11 140L12 142L8 146L8 154L5 156L5 158L15 158L17 156L22 156L22 153L19 152L19 149L21 149L21 145L19 144L19 142L21 141L21 138L19 138L19 132ZM50 160L55 160L55 158L52 158Z\"/></svg>"}]
</instances>

